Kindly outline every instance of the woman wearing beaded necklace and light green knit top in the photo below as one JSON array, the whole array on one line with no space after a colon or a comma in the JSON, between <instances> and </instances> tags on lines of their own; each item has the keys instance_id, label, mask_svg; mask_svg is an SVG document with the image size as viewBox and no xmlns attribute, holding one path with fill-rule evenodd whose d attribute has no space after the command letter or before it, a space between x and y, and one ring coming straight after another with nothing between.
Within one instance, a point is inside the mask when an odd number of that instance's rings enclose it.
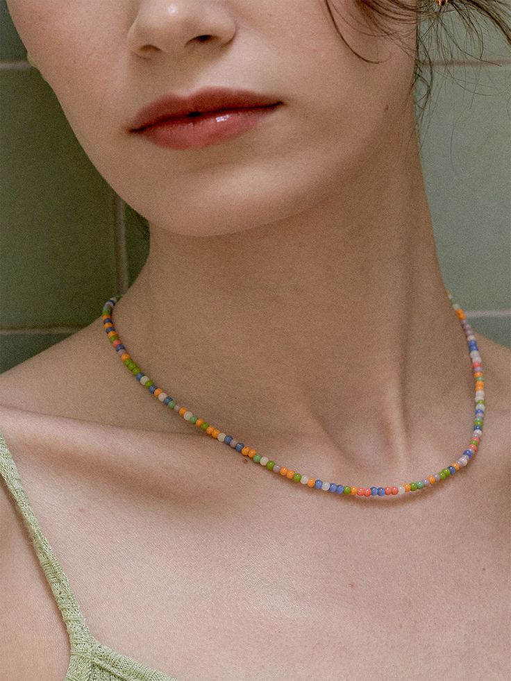
<instances>
[{"instance_id":1,"label":"woman wearing beaded necklace and light green knit top","mask_svg":"<svg viewBox=\"0 0 511 681\"><path fill-rule=\"evenodd\" d=\"M508 678L511 352L440 274L415 6L8 6L151 247L104 315L0 377L54 551L4 449L4 678Z\"/></svg>"}]
</instances>

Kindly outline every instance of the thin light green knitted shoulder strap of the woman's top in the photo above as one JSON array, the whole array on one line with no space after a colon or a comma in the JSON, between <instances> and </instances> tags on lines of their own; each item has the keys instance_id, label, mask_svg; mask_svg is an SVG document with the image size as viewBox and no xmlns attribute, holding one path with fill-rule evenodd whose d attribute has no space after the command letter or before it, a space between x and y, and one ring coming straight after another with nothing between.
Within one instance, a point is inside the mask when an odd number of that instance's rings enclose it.
<instances>
[{"instance_id":1,"label":"thin light green knitted shoulder strap of the woman's top","mask_svg":"<svg viewBox=\"0 0 511 681\"><path fill-rule=\"evenodd\" d=\"M25 526L32 539L37 558L44 571L44 575L55 596L58 609L64 619L72 652L90 653L92 635L85 623L80 606L76 600L69 580L60 567L49 541L40 528L35 517L28 496L19 477L18 469L8 450L6 440L0 432L0 475L14 498L19 512L21 512Z\"/></svg>"}]
</instances>

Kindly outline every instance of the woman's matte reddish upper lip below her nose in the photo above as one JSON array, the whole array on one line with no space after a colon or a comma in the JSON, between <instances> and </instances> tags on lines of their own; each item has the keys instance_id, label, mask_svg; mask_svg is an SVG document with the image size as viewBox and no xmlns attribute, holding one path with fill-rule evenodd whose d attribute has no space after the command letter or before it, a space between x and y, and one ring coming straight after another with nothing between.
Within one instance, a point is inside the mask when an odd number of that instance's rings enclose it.
<instances>
[{"instance_id":1,"label":"woman's matte reddish upper lip below her nose","mask_svg":"<svg viewBox=\"0 0 511 681\"><path fill-rule=\"evenodd\" d=\"M228 87L208 87L187 96L163 96L144 106L131 121L131 131L147 128L168 118L192 112L253 108L281 103L278 97Z\"/></svg>"}]
</instances>

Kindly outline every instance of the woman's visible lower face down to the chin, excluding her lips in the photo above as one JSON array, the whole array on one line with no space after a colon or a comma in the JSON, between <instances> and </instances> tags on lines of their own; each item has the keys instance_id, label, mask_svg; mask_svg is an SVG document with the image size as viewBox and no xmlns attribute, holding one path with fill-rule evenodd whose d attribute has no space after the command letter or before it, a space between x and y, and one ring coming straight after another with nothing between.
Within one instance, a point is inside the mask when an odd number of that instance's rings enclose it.
<instances>
[{"instance_id":1,"label":"woman's visible lower face down to the chin, excluding her lips","mask_svg":"<svg viewBox=\"0 0 511 681\"><path fill-rule=\"evenodd\" d=\"M403 133L405 106L410 123L415 26L392 26L401 33L384 40L364 35L352 0L332 6L346 42L380 64L351 52L324 0L8 0L101 175L158 229L205 236L339 194ZM283 105L199 149L164 149L130 131L142 106L215 86Z\"/></svg>"}]
</instances>

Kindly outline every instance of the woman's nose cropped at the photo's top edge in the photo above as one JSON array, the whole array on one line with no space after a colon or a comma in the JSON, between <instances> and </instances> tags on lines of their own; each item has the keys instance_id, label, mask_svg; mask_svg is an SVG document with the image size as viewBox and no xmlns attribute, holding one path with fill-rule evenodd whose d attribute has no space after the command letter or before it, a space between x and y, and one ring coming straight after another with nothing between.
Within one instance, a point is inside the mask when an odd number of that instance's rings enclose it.
<instances>
[{"instance_id":1,"label":"woman's nose cropped at the photo's top edge","mask_svg":"<svg viewBox=\"0 0 511 681\"><path fill-rule=\"evenodd\" d=\"M234 18L219 0L138 0L127 42L140 57L181 58L199 44L221 47L233 39ZM201 48L203 49L203 48Z\"/></svg>"}]
</instances>

